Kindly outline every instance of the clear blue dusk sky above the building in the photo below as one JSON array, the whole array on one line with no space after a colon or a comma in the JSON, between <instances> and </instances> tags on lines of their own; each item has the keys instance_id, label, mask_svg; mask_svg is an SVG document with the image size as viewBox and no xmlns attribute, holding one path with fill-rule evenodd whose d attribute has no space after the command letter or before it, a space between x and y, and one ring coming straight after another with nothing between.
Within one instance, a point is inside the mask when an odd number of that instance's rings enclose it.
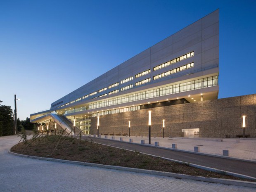
<instances>
[{"instance_id":1,"label":"clear blue dusk sky above the building","mask_svg":"<svg viewBox=\"0 0 256 192\"><path fill-rule=\"evenodd\" d=\"M218 8L218 97L254 94L255 0L0 0L0 100L26 119Z\"/></svg>"}]
</instances>

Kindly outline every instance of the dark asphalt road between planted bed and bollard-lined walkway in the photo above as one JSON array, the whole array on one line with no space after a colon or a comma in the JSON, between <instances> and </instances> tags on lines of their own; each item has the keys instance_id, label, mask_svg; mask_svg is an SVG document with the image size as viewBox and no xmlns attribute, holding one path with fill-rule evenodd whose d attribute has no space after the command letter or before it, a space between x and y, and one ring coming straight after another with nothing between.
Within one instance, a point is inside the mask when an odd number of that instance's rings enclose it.
<instances>
[{"instance_id":1,"label":"dark asphalt road between planted bed and bollard-lined walkway","mask_svg":"<svg viewBox=\"0 0 256 192\"><path fill-rule=\"evenodd\" d=\"M197 164L200 166L206 166L210 168L217 168L223 171L230 171L233 173L239 173L242 175L248 175L256 178L256 163L247 162L235 159L224 159L221 157L213 157L199 154L192 154L187 152L179 152L168 149L159 149L155 147L149 147L147 145L136 145L128 142L119 142L115 140L100 139L97 137L90 137L93 142L110 145L113 147L121 147L133 151L138 151L146 154L152 154L156 156L162 156L168 159L174 159L183 162L189 162L191 164ZM88 137L84 137L86 140L90 140Z\"/></svg>"}]
</instances>

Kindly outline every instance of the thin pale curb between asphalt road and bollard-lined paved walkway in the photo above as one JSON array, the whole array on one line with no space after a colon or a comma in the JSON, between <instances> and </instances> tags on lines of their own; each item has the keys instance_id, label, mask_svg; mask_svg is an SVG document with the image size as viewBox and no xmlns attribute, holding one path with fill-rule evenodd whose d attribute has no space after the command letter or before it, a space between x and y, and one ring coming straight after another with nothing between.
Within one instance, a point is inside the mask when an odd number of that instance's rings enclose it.
<instances>
[{"instance_id":1,"label":"thin pale curb between asphalt road and bollard-lined paved walkway","mask_svg":"<svg viewBox=\"0 0 256 192\"><path fill-rule=\"evenodd\" d=\"M84 137L88 137L88 136L84 136ZM105 139L105 138L102 138L102 137L92 137L92 138L111 140L111 139ZM186 150L183 150L183 149L173 149L173 148L168 148L168 147L160 147L160 146L154 146L154 145L149 145L149 144L140 144L140 143L128 142L128 141L119 141L119 140L112 140L112 141L126 142L126 143L130 143L130 144L133 144L133 145L142 145L142 146L154 147L154 148L159 148L159 149L167 149L167 150L171 150L171 151L178 151L178 152L185 152L185 153L198 154L198 155L204 155L204 156L220 157L220 158L223 158L223 159L234 159L234 160L239 160L239 161L247 161L247 162L251 162L251 163L256 163L256 161L254 161L254 160L239 159L239 158L230 157L230 156L222 156L222 155L216 155L216 154L207 154L207 153L201 153L201 152L186 151Z\"/></svg>"}]
</instances>

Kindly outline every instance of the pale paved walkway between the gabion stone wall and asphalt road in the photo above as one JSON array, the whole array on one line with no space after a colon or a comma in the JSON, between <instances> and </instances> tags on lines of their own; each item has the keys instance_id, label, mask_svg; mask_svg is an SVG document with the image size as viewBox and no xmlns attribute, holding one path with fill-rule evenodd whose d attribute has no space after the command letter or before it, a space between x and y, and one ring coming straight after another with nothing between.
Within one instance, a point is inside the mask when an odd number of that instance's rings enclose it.
<instances>
[{"instance_id":1,"label":"pale paved walkway between the gabion stone wall and asphalt road","mask_svg":"<svg viewBox=\"0 0 256 192\"><path fill-rule=\"evenodd\" d=\"M145 140L145 144L148 144L148 137L121 137L126 142L129 142L129 138L132 138L133 142L140 143L140 140ZM102 138L104 138L104 135L102 135ZM108 138L111 139L111 136L108 136ZM120 136L115 136L115 140L120 140ZM216 140L218 138L151 137L151 145L158 141L160 147L171 148L172 144L175 143L177 144L177 149L191 152L194 152L194 146L198 146L201 153L221 156L223 155L223 150L229 150L230 157L256 162L256 139L228 138L222 139L222 142Z\"/></svg>"}]
</instances>

